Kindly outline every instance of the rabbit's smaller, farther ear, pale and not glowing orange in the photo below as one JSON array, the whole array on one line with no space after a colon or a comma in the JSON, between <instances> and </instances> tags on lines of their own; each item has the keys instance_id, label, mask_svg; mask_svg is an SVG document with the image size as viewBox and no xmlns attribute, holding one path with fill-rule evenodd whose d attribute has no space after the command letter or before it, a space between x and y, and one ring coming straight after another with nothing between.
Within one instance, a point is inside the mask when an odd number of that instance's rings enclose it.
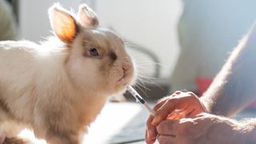
<instances>
[{"instance_id":1,"label":"rabbit's smaller, farther ear, pale and not glowing orange","mask_svg":"<svg viewBox=\"0 0 256 144\"><path fill-rule=\"evenodd\" d=\"M94 10L92 10L86 4L79 6L78 18L82 26L98 26L98 18Z\"/></svg>"}]
</instances>

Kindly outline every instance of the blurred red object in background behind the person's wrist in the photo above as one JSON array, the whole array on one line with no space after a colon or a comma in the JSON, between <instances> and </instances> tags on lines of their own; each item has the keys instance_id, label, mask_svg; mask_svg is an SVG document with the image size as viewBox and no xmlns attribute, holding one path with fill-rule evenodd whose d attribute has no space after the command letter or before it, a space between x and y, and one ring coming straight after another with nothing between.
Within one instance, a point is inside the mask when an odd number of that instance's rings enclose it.
<instances>
[{"instance_id":1,"label":"blurred red object in background behind the person's wrist","mask_svg":"<svg viewBox=\"0 0 256 144\"><path fill-rule=\"evenodd\" d=\"M213 82L213 78L203 78L198 77L196 78L196 84L198 87L198 95L201 97L202 94L208 89L211 82ZM256 101L247 106L247 109L256 109Z\"/></svg>"}]
</instances>

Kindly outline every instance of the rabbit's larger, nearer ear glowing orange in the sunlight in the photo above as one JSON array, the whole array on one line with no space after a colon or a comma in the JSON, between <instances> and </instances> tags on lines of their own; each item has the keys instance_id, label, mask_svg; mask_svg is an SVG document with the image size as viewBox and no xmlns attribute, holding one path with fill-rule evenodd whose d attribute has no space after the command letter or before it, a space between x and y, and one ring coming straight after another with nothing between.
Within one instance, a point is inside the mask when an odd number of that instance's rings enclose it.
<instances>
[{"instance_id":1,"label":"rabbit's larger, nearer ear glowing orange in the sunlight","mask_svg":"<svg viewBox=\"0 0 256 144\"><path fill-rule=\"evenodd\" d=\"M62 42L73 42L75 36L78 34L78 25L74 17L59 6L58 3L51 6L49 14L54 34L56 34Z\"/></svg>"}]
</instances>

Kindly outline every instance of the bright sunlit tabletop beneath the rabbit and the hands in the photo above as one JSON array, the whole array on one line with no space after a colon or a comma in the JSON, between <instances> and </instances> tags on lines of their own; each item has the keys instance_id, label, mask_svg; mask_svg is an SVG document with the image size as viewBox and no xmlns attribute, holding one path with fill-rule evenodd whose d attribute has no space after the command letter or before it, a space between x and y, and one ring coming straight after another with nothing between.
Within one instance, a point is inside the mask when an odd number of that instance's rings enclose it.
<instances>
[{"instance_id":1,"label":"bright sunlit tabletop beneath the rabbit and the hands","mask_svg":"<svg viewBox=\"0 0 256 144\"><path fill-rule=\"evenodd\" d=\"M153 104L151 103L151 106ZM82 143L144 144L146 119L149 113L136 102L107 102L101 114L90 126ZM256 110L244 110L234 118L256 118ZM23 130L22 137L29 138L33 143L46 144L34 138L30 130Z\"/></svg>"}]
</instances>

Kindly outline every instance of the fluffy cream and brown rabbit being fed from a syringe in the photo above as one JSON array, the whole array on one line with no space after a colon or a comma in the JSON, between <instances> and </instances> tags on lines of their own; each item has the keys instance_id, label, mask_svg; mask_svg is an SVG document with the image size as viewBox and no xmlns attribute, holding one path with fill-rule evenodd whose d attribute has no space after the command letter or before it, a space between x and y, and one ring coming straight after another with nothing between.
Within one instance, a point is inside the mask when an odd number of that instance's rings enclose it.
<instances>
[{"instance_id":1,"label":"fluffy cream and brown rabbit being fed from a syringe","mask_svg":"<svg viewBox=\"0 0 256 144\"><path fill-rule=\"evenodd\" d=\"M134 63L86 4L73 14L55 3L49 15L45 42L0 42L0 133L26 127L47 143L77 144L108 96L134 83Z\"/></svg>"}]
</instances>

